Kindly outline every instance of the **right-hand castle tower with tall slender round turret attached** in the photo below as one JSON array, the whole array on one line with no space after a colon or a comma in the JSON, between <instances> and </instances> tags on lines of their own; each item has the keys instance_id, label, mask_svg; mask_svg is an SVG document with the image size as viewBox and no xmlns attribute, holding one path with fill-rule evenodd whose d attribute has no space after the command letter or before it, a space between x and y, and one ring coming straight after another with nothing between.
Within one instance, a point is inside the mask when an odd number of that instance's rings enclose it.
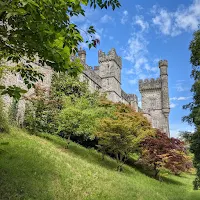
<instances>
[{"instance_id":1,"label":"right-hand castle tower with tall slender round turret attached","mask_svg":"<svg viewBox=\"0 0 200 200\"><path fill-rule=\"evenodd\" d=\"M169 136L169 93L168 93L168 62L159 62L160 78L139 80L142 96L142 110L151 121L152 126Z\"/></svg>"}]
</instances>

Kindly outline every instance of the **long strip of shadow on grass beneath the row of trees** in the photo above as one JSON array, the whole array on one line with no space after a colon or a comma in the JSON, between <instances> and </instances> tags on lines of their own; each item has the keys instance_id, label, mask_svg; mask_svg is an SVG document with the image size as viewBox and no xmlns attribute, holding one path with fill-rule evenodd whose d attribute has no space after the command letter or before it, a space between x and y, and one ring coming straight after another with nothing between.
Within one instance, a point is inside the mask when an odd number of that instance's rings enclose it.
<instances>
[{"instance_id":1,"label":"long strip of shadow on grass beneath the row of trees","mask_svg":"<svg viewBox=\"0 0 200 200\"><path fill-rule=\"evenodd\" d=\"M67 147L67 141L66 139L59 137L57 135L52 135L48 133L37 133L37 134L32 134L36 135L40 138L44 138L48 141L50 141L52 144L56 145L58 148L60 148L62 151L67 152L67 153L72 153L75 154L77 157L80 157L82 159L87 160L87 162L100 165L101 167L106 168L107 170L112 170L116 171L117 169L117 162L115 159L105 156L105 159L102 160L102 155L101 153L97 152L97 150L93 148L85 148L81 146L80 144L70 142L69 147ZM127 167L128 165L129 167ZM145 169L142 165L136 164L135 160L130 159L126 162L126 165L123 167L122 173L125 173L126 175L133 174L133 170L139 171L142 174L145 174L146 176L155 179L154 174L151 170ZM169 177L163 177L161 176L161 181L165 183L170 183L174 185L184 185L183 183L171 179ZM159 180L158 180L159 181Z\"/></svg>"}]
</instances>

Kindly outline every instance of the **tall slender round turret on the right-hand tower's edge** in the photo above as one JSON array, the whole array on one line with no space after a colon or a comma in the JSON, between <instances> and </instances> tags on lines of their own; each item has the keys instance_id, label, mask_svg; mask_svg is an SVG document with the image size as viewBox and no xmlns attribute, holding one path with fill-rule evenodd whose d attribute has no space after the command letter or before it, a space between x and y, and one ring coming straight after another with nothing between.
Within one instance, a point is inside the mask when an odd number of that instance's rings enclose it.
<instances>
[{"instance_id":1,"label":"tall slender round turret on the right-hand tower's edge","mask_svg":"<svg viewBox=\"0 0 200 200\"><path fill-rule=\"evenodd\" d=\"M167 60L161 60L159 62L160 68L160 79L161 79L161 93L162 93L162 112L164 115L163 119L163 130L169 135L169 91L168 91L168 62Z\"/></svg>"}]
</instances>

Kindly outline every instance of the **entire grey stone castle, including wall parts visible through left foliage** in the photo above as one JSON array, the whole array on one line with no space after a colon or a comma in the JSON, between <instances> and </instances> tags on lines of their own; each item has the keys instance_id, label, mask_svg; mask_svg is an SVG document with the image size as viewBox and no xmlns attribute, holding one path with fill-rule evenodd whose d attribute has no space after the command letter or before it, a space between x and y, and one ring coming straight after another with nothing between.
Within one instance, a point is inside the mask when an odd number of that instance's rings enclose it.
<instances>
[{"instance_id":1,"label":"entire grey stone castle, including wall parts visible through left foliage","mask_svg":"<svg viewBox=\"0 0 200 200\"><path fill-rule=\"evenodd\" d=\"M86 51L80 49L78 57L84 65L84 71L80 75L81 81L88 83L91 91L98 90L101 93L106 93L107 98L113 102L122 102L130 104L137 112L138 98L135 94L126 94L121 88L121 69L122 61L115 51L111 49L108 54L102 51L98 52L99 66L94 68L86 64ZM159 62L160 78L139 80L139 91L142 96L142 112L147 119L152 123L154 128L158 128L169 135L169 94L168 94L168 63L167 61ZM40 84L47 88L51 86L52 70L48 67L41 69L45 75L43 82ZM18 85L25 87L20 75L9 74L3 82L6 86ZM29 90L27 95L31 95L33 89ZM6 105L11 103L8 96L4 97ZM18 103L18 118L23 121L25 111L25 100L21 99Z\"/></svg>"}]
</instances>

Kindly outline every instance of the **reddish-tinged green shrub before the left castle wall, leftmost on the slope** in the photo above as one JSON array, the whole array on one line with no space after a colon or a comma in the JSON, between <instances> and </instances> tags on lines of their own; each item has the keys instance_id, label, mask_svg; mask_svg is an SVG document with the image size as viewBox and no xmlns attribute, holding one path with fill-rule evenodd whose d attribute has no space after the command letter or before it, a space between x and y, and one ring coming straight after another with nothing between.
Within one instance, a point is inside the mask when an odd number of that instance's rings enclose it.
<instances>
[{"instance_id":1,"label":"reddish-tinged green shrub before the left castle wall, leftmost on the slope","mask_svg":"<svg viewBox=\"0 0 200 200\"><path fill-rule=\"evenodd\" d=\"M35 87L35 94L27 98L24 126L30 132L54 133L57 128L58 102L48 97L47 91Z\"/></svg>"}]
</instances>

